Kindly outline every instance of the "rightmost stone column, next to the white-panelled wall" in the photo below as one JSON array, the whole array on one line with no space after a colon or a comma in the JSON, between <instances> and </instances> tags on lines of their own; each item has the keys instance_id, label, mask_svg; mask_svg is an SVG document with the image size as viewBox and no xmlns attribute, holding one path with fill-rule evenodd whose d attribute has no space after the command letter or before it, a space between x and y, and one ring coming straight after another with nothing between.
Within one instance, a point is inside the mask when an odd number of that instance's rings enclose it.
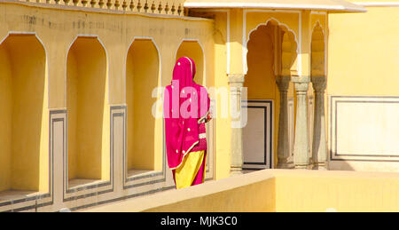
<instances>
[{"instance_id":1,"label":"rightmost stone column, next to the white-panelled wall","mask_svg":"<svg viewBox=\"0 0 399 230\"><path fill-rule=\"evenodd\" d=\"M313 170L327 170L327 141L325 139L325 76L312 76L315 90L315 117L313 131Z\"/></svg>"}]
</instances>

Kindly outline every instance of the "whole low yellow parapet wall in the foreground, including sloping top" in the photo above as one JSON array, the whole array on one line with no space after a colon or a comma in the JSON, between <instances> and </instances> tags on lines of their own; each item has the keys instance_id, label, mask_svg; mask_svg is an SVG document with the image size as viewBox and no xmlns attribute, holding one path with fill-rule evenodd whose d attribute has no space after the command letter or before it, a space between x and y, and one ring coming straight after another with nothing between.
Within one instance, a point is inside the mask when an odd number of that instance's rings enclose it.
<instances>
[{"instance_id":1,"label":"whole low yellow parapet wall in the foreground, including sloping top","mask_svg":"<svg viewBox=\"0 0 399 230\"><path fill-rule=\"evenodd\" d=\"M398 211L398 173L264 170L86 211Z\"/></svg>"}]
</instances>

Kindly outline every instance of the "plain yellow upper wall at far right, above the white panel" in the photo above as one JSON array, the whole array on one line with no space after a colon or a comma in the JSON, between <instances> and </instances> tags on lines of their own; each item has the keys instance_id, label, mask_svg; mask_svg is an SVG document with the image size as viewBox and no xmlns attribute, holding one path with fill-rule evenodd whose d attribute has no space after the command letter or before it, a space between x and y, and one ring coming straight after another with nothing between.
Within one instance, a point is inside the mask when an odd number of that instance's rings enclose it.
<instances>
[{"instance_id":1,"label":"plain yellow upper wall at far right, above the white panel","mask_svg":"<svg viewBox=\"0 0 399 230\"><path fill-rule=\"evenodd\" d=\"M367 7L329 15L328 94L399 95L398 13L397 7Z\"/></svg>"}]
</instances>

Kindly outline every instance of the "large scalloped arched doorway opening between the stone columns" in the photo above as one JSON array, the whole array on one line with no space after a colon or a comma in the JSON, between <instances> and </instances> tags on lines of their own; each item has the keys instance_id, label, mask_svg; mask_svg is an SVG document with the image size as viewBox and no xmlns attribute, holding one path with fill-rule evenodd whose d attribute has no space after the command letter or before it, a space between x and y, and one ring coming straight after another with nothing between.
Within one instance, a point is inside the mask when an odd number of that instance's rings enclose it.
<instances>
[{"instance_id":1,"label":"large scalloped arched doorway opening between the stone columns","mask_svg":"<svg viewBox=\"0 0 399 230\"><path fill-rule=\"evenodd\" d=\"M291 30L269 20L250 33L246 47L248 122L243 130L244 168L273 168L280 113L277 80L296 73L297 44ZM288 82L287 87L287 97L293 99L292 83Z\"/></svg>"}]
</instances>

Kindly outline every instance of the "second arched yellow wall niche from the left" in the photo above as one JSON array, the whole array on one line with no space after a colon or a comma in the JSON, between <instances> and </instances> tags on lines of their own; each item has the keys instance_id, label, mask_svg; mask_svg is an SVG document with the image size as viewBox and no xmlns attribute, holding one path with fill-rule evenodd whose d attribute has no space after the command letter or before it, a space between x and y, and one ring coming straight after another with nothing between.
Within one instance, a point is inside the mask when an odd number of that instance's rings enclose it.
<instances>
[{"instance_id":1,"label":"second arched yellow wall niche from the left","mask_svg":"<svg viewBox=\"0 0 399 230\"><path fill-rule=\"evenodd\" d=\"M102 174L106 108L106 52L96 37L78 37L67 56L67 169L69 187Z\"/></svg>"}]
</instances>

